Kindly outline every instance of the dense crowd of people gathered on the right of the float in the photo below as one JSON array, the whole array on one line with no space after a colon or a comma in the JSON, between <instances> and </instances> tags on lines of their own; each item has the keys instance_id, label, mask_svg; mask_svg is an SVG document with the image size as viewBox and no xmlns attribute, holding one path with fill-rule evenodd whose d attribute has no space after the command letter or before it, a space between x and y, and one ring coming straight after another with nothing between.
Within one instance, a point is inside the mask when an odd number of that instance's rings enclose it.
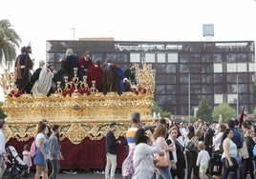
<instances>
[{"instance_id":1,"label":"dense crowd of people gathered on the right of the float","mask_svg":"<svg viewBox=\"0 0 256 179\"><path fill-rule=\"evenodd\" d=\"M132 115L126 133L129 146L122 163L124 179L205 179L228 177L254 179L256 172L255 125L245 119L209 124L174 123L160 119L142 126L139 113ZM155 156L165 155L169 165L157 167ZM107 171L107 170L106 170ZM114 178L106 174L105 179Z\"/></svg>"}]
</instances>

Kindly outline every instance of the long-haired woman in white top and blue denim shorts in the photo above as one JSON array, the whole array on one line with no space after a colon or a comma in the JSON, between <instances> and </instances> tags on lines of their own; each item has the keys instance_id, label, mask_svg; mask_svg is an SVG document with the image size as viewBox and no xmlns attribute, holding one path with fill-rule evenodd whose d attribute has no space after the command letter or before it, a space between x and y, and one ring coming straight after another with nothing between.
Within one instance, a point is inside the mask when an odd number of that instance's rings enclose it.
<instances>
[{"instance_id":1,"label":"long-haired woman in white top and blue denim shorts","mask_svg":"<svg viewBox=\"0 0 256 179\"><path fill-rule=\"evenodd\" d=\"M34 179L40 179L40 175L43 172L44 179L48 179L48 167L47 167L47 161L48 161L48 155L49 155L49 143L48 140L44 134L46 129L46 124L43 122L39 122L38 128L37 128L37 134L35 137L35 147L36 147L36 153L33 158L33 162L36 165L36 172Z\"/></svg>"}]
</instances>

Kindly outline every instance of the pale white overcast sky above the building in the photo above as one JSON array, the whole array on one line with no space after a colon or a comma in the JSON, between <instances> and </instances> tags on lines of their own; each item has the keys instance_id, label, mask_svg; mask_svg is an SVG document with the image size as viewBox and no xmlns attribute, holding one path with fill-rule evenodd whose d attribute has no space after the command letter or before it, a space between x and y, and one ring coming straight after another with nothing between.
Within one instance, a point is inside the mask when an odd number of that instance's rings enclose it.
<instances>
[{"instance_id":1,"label":"pale white overcast sky above the building","mask_svg":"<svg viewBox=\"0 0 256 179\"><path fill-rule=\"evenodd\" d=\"M212 40L256 40L256 0L0 0L0 7L0 20L11 21L21 47L32 43L36 62L46 59L47 40L203 41L203 24L214 25Z\"/></svg>"}]
</instances>

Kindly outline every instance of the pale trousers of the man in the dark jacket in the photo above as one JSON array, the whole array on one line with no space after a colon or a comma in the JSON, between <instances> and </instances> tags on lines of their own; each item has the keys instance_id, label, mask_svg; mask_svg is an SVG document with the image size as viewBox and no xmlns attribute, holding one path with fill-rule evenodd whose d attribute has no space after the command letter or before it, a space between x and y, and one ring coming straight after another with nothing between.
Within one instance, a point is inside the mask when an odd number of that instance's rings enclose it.
<instances>
[{"instance_id":1,"label":"pale trousers of the man in the dark jacket","mask_svg":"<svg viewBox=\"0 0 256 179\"><path fill-rule=\"evenodd\" d=\"M117 169L117 154L106 154L107 164L105 168L105 179L115 179L115 172ZM109 174L110 171L110 174Z\"/></svg>"}]
</instances>

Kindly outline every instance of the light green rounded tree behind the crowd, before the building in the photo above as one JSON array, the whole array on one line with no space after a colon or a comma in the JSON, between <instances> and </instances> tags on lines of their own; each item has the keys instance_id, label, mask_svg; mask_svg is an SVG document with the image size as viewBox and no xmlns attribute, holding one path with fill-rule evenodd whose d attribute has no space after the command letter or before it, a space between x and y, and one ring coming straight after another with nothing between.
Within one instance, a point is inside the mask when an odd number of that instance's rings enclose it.
<instances>
[{"instance_id":1,"label":"light green rounded tree behind the crowd, before the building","mask_svg":"<svg viewBox=\"0 0 256 179\"><path fill-rule=\"evenodd\" d=\"M227 103L223 103L214 108L212 112L212 118L218 121L220 115L222 115L223 122L226 122L232 117L236 119L237 112L235 109L230 107Z\"/></svg>"}]
</instances>

